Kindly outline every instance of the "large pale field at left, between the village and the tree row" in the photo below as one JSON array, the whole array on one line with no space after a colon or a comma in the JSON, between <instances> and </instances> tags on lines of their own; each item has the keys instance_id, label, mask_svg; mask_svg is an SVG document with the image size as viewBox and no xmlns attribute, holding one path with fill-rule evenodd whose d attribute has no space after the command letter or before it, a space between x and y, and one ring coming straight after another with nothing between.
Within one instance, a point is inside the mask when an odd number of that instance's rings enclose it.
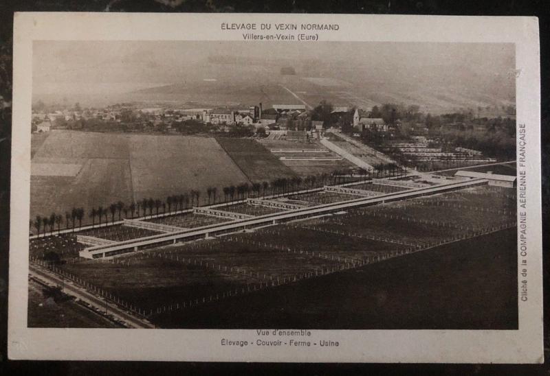
<instances>
[{"instance_id":1,"label":"large pale field at left, between the village and the tree row","mask_svg":"<svg viewBox=\"0 0 550 376\"><path fill-rule=\"evenodd\" d=\"M209 137L70 130L34 136L32 219L52 212L64 216L73 207L83 207L82 224L87 225L92 222L92 208L109 207L113 202L128 205L142 198L165 200L166 196L196 189L201 191L203 203L207 187L217 187L219 196L224 186L249 182L217 141ZM36 233L35 228L31 231Z\"/></svg>"}]
</instances>

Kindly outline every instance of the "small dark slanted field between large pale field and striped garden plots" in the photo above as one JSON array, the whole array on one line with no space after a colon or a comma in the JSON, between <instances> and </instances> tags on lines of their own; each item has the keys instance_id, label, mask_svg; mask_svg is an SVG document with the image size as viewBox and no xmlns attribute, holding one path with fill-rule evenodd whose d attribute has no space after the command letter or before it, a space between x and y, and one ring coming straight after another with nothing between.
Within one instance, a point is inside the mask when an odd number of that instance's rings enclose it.
<instances>
[{"instance_id":1,"label":"small dark slanted field between large pale field and striped garden plots","mask_svg":"<svg viewBox=\"0 0 550 376\"><path fill-rule=\"evenodd\" d=\"M217 141L251 182L270 182L275 178L296 176L276 156L253 139L219 137Z\"/></svg>"}]
</instances>

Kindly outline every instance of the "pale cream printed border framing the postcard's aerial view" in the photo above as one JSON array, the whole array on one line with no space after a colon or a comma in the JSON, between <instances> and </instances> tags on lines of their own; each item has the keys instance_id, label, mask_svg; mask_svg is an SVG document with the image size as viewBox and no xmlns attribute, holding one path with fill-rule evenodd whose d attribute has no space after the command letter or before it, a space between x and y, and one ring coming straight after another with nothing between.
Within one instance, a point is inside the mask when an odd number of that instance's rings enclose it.
<instances>
[{"instance_id":1,"label":"pale cream printed border framing the postcard's aerial view","mask_svg":"<svg viewBox=\"0 0 550 376\"><path fill-rule=\"evenodd\" d=\"M527 124L529 301L519 330L314 331L338 348L219 346L222 336L256 338L250 330L29 329L28 222L33 40L242 40L222 22L338 23L320 40L516 43L518 124ZM265 42L269 43L269 42ZM297 43L297 42L289 42ZM308 43L308 42L304 42ZM327 14L16 13L8 354L34 360L193 360L252 362L539 363L542 349L540 208L540 75L538 19L530 17L372 16ZM518 277L520 278L520 276ZM475 293L475 292L472 292Z\"/></svg>"}]
</instances>

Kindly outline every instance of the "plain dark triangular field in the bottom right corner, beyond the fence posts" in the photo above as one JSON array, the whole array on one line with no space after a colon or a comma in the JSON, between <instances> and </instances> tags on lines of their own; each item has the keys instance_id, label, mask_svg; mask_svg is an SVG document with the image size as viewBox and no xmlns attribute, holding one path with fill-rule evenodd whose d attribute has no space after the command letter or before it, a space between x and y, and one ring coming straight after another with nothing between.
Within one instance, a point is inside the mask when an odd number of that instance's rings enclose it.
<instances>
[{"instance_id":1,"label":"plain dark triangular field in the bottom right corner, beyond the fence posts","mask_svg":"<svg viewBox=\"0 0 550 376\"><path fill-rule=\"evenodd\" d=\"M154 322L212 329L517 329L516 252L511 228Z\"/></svg>"}]
</instances>

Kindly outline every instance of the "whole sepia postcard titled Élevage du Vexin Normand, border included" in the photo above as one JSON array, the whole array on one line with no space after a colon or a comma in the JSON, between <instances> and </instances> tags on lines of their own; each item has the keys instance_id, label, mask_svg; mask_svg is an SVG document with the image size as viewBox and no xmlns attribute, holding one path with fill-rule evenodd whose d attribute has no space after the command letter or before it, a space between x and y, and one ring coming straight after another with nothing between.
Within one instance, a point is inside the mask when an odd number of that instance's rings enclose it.
<instances>
[{"instance_id":1,"label":"whole sepia postcard titled \u00c9levage du Vexin Normand, border included","mask_svg":"<svg viewBox=\"0 0 550 376\"><path fill-rule=\"evenodd\" d=\"M542 362L536 27L19 14L10 358Z\"/></svg>"}]
</instances>

